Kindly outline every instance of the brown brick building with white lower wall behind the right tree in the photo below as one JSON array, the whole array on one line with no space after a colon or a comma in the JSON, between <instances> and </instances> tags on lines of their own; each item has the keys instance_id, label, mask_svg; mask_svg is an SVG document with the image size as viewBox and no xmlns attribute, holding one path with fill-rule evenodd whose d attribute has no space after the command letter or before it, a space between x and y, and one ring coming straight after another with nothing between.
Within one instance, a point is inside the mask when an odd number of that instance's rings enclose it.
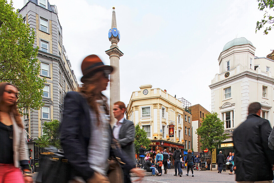
<instances>
[{"instance_id":1,"label":"brown brick building with white lower wall behind the right tree","mask_svg":"<svg viewBox=\"0 0 274 183\"><path fill-rule=\"evenodd\" d=\"M202 120L206 117L206 114L209 113L203 106L200 104L196 104L191 106L192 113L192 127L193 127L193 151L194 152L202 152L201 142L199 142L200 137L195 134L196 130L202 125Z\"/></svg>"}]
</instances>

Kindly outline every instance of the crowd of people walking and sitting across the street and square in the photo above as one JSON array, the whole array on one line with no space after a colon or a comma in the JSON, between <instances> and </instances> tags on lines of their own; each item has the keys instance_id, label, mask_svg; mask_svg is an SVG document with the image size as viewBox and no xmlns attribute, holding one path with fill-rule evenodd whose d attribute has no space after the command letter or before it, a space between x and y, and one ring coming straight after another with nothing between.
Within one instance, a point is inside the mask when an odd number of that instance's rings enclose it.
<instances>
[{"instance_id":1,"label":"crowd of people walking and sitting across the street and square","mask_svg":"<svg viewBox=\"0 0 274 183\"><path fill-rule=\"evenodd\" d=\"M136 168L134 153L135 126L126 120L125 104L117 101L109 109L107 97L102 94L109 82L113 67L104 65L96 55L87 56L81 65L83 83L79 91L68 92L64 99L63 118L60 126L60 140L65 157L71 165L70 182L88 183L130 183L130 173L143 176ZM18 89L10 83L0 84L0 180L3 183L31 183L34 160L28 161L24 124L17 109ZM117 122L110 125L112 110ZM272 182L274 170L274 132L269 121L263 119L261 104L250 104L247 120L233 132L235 153L225 159L222 151L216 158L218 173L223 165L229 167L229 174L236 172L237 182ZM138 164L152 176L162 176L170 169L170 155L166 149L157 150L152 158L146 154L145 146L139 148ZM96 156L100 154L100 156ZM174 176L182 176L186 166L187 174L193 167L200 171L200 159L187 151L185 161L179 149L173 152ZM211 160L207 160L210 170ZM254 168L258 167L258 168Z\"/></svg>"}]
</instances>

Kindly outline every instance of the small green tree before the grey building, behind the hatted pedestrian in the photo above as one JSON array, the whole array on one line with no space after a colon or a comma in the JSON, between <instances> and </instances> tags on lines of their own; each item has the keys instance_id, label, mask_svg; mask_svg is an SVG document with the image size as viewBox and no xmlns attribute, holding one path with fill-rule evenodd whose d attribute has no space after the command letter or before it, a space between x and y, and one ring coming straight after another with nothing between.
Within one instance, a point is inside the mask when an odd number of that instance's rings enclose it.
<instances>
[{"instance_id":1,"label":"small green tree before the grey building, behind the hatted pedestrian","mask_svg":"<svg viewBox=\"0 0 274 183\"><path fill-rule=\"evenodd\" d=\"M59 139L59 125L58 120L50 120L49 122L44 122L43 134L36 140L36 146L40 148L48 147L52 145L58 149L61 149L60 139Z\"/></svg>"}]
</instances>

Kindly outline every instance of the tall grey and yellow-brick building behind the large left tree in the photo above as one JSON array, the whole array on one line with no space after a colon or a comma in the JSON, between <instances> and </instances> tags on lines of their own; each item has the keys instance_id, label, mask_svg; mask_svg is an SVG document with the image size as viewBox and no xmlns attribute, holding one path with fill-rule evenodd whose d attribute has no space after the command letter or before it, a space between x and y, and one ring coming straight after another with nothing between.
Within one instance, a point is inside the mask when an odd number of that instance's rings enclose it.
<instances>
[{"instance_id":1,"label":"tall grey and yellow-brick building behind the large left tree","mask_svg":"<svg viewBox=\"0 0 274 183\"><path fill-rule=\"evenodd\" d=\"M24 6L18 11L23 22L35 31L33 47L39 47L39 76L46 78L42 98L44 106L39 110L24 109L27 113L24 115L25 130L33 138L28 142L28 155L37 160L39 153L34 140L43 135L45 121L61 121L65 93L77 90L78 83L62 44L63 30L56 6L47 0L24 0Z\"/></svg>"}]
</instances>

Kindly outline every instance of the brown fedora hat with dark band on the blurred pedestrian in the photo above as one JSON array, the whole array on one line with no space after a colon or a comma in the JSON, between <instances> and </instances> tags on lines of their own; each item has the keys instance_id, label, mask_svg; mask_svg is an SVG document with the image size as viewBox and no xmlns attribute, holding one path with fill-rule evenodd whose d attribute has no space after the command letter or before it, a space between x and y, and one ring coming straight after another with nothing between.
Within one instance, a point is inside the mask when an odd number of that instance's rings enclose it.
<instances>
[{"instance_id":1,"label":"brown fedora hat with dark band on the blurred pedestrian","mask_svg":"<svg viewBox=\"0 0 274 183\"><path fill-rule=\"evenodd\" d=\"M82 61L81 70L83 73L81 82L83 82L85 79L101 70L107 70L111 73L113 71L113 67L110 65L104 65L102 60L97 55L89 55Z\"/></svg>"}]
</instances>

